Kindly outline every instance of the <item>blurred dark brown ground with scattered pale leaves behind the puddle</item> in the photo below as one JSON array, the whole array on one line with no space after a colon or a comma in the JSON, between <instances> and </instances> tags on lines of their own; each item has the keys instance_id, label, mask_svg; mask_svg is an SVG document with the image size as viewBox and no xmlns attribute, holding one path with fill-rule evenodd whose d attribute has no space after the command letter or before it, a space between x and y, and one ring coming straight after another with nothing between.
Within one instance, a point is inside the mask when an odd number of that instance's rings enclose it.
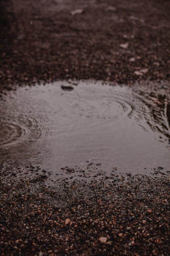
<instances>
[{"instance_id":1,"label":"blurred dark brown ground with scattered pale leaves behind the puddle","mask_svg":"<svg viewBox=\"0 0 170 256\"><path fill-rule=\"evenodd\" d=\"M2 0L0 5L1 90L68 78L169 80L168 0Z\"/></svg>"}]
</instances>

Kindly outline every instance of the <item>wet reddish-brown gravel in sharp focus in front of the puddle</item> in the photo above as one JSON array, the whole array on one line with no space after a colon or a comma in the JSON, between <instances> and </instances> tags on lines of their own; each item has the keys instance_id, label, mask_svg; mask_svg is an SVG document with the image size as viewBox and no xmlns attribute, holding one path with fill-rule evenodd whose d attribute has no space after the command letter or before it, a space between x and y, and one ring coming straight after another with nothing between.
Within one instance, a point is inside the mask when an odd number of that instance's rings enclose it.
<instances>
[{"instance_id":1,"label":"wet reddish-brown gravel in sharp focus in front of the puddle","mask_svg":"<svg viewBox=\"0 0 170 256\"><path fill-rule=\"evenodd\" d=\"M168 255L169 181L1 180L1 255Z\"/></svg>"}]
</instances>

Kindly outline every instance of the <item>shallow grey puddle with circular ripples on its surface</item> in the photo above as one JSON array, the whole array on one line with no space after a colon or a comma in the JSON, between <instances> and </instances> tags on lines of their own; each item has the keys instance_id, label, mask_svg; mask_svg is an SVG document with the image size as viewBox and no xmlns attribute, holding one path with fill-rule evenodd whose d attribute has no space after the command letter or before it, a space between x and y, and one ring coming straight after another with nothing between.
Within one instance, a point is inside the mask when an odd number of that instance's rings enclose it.
<instances>
[{"instance_id":1,"label":"shallow grey puddle with circular ripples on its surface","mask_svg":"<svg viewBox=\"0 0 170 256\"><path fill-rule=\"evenodd\" d=\"M143 91L92 81L19 88L0 101L1 162L40 166L57 178L83 169L166 173L169 103Z\"/></svg>"}]
</instances>

